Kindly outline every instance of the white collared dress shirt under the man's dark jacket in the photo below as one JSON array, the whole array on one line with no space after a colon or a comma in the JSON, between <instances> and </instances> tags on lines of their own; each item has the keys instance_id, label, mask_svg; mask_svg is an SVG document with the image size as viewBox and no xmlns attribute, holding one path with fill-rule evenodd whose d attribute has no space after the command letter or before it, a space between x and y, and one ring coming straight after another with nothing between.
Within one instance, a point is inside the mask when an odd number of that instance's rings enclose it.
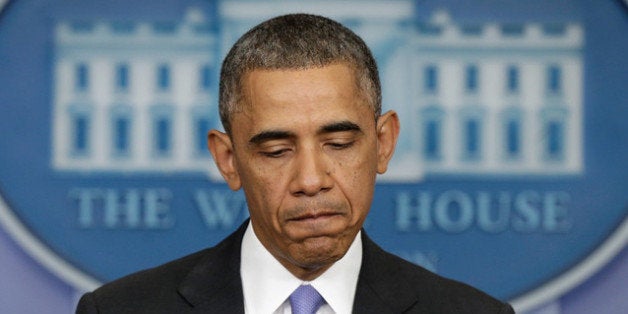
<instances>
[{"instance_id":1,"label":"white collared dress shirt under the man's dark jacket","mask_svg":"<svg viewBox=\"0 0 628 314\"><path fill-rule=\"evenodd\" d=\"M362 264L360 232L349 250L318 278L304 282L290 273L259 241L249 225L242 239L240 274L247 314L290 314L288 297L302 284L310 284L326 303L317 314L351 313Z\"/></svg>"}]
</instances>

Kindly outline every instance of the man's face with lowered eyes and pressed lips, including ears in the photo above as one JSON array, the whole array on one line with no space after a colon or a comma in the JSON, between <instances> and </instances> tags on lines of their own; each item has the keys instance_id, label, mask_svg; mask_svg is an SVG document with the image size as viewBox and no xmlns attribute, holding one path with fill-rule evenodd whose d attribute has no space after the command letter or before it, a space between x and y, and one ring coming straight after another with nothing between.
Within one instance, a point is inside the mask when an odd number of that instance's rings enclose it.
<instances>
[{"instance_id":1,"label":"man's face with lowered eyes and pressed lips, including ears","mask_svg":"<svg viewBox=\"0 0 628 314\"><path fill-rule=\"evenodd\" d=\"M376 122L344 64L254 70L243 79L243 95L231 138L210 134L210 147L225 148L212 153L230 187L244 189L266 249L297 277L313 279L362 227L376 174L394 150L397 117L389 112Z\"/></svg>"}]
</instances>

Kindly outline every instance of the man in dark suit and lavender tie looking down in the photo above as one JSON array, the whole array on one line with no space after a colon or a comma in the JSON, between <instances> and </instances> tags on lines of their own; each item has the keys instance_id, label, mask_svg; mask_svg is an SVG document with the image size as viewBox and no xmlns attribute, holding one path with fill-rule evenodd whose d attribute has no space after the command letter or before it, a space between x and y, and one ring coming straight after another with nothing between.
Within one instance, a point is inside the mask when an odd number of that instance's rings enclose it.
<instances>
[{"instance_id":1,"label":"man in dark suit and lavender tie looking down","mask_svg":"<svg viewBox=\"0 0 628 314\"><path fill-rule=\"evenodd\" d=\"M84 295L78 313L512 313L361 231L399 120L381 113L375 61L350 30L305 14L258 25L225 58L219 103L209 149L250 220Z\"/></svg>"}]
</instances>

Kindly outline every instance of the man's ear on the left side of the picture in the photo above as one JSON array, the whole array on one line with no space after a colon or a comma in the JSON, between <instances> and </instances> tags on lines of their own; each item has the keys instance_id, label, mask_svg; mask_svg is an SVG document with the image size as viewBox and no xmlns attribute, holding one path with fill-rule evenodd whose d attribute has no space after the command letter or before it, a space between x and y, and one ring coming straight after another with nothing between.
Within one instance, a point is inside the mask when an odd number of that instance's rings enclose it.
<instances>
[{"instance_id":1,"label":"man's ear on the left side of the picture","mask_svg":"<svg viewBox=\"0 0 628 314\"><path fill-rule=\"evenodd\" d=\"M242 187L240 174L235 162L233 144L229 135L217 130L211 130L207 134L207 146L214 157L214 162L225 178L229 188L234 191Z\"/></svg>"}]
</instances>

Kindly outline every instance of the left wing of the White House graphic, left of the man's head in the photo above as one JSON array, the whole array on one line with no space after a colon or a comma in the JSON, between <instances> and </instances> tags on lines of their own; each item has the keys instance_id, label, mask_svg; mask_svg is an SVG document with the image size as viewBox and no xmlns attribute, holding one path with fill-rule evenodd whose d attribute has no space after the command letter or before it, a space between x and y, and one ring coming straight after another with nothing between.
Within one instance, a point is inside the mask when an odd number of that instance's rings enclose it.
<instances>
[{"instance_id":1,"label":"left wing of the White House graphic, left of the man's head","mask_svg":"<svg viewBox=\"0 0 628 314\"><path fill-rule=\"evenodd\" d=\"M59 22L54 168L207 169L216 42L197 10L182 21Z\"/></svg>"}]
</instances>

